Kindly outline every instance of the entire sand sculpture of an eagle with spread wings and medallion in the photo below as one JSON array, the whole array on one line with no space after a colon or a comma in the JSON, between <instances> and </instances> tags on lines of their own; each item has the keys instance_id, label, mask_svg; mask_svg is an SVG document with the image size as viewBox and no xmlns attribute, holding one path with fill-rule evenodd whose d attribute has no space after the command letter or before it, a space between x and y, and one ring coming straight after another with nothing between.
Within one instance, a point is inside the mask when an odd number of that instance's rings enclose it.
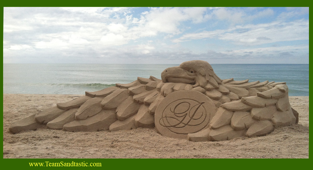
<instances>
[{"instance_id":1,"label":"entire sand sculpture of an eagle with spread wings and medallion","mask_svg":"<svg viewBox=\"0 0 313 170\"><path fill-rule=\"evenodd\" d=\"M165 69L161 79L138 77L13 122L19 133L46 126L64 131L156 128L163 136L222 141L263 136L298 123L286 83L221 80L205 61Z\"/></svg>"}]
</instances>

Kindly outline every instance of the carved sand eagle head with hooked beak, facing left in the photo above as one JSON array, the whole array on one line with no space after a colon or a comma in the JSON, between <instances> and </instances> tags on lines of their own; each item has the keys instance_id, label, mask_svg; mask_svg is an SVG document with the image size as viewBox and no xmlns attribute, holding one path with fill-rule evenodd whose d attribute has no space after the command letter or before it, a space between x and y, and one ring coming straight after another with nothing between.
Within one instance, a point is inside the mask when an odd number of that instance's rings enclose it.
<instances>
[{"instance_id":1,"label":"carved sand eagle head with hooked beak, facing left","mask_svg":"<svg viewBox=\"0 0 313 170\"><path fill-rule=\"evenodd\" d=\"M187 61L177 67L167 68L161 73L161 78L164 83L198 83L203 88L208 83L218 87L221 82L221 79L214 73L212 66L202 60Z\"/></svg>"}]
</instances>

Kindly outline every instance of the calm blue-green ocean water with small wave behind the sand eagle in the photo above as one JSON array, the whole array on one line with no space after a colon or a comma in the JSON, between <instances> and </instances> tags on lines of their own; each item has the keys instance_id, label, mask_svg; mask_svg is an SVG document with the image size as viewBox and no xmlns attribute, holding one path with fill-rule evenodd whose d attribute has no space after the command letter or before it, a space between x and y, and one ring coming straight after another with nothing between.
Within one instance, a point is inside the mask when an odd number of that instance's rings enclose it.
<instances>
[{"instance_id":1,"label":"calm blue-green ocean water with small wave behind the sand eagle","mask_svg":"<svg viewBox=\"0 0 313 170\"><path fill-rule=\"evenodd\" d=\"M85 94L131 83L179 64L3 64L3 93ZM289 96L309 96L309 64L211 64L221 79L286 82Z\"/></svg>"}]
</instances>

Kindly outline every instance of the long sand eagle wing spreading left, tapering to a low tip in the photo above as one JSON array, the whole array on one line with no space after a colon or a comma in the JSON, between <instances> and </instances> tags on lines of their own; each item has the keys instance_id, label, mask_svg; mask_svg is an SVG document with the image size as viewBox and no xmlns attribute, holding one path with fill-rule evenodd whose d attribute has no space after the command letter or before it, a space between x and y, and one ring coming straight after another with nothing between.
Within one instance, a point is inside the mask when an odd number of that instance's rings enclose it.
<instances>
[{"instance_id":1,"label":"long sand eagle wing spreading left, tapering to a low tip","mask_svg":"<svg viewBox=\"0 0 313 170\"><path fill-rule=\"evenodd\" d=\"M162 80L138 77L132 83L118 84L65 103L57 103L27 118L13 122L9 131L19 133L46 125L65 131L110 131L154 128L155 109L164 98Z\"/></svg>"}]
</instances>

